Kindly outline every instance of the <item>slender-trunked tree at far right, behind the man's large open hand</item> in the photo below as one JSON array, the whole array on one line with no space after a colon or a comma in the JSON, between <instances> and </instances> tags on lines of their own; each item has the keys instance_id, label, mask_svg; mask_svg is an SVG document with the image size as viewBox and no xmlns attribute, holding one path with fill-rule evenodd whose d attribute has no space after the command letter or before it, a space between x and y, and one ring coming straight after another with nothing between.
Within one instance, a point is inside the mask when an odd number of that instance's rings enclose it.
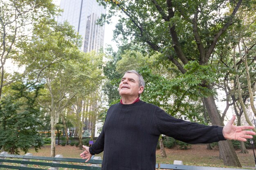
<instances>
[{"instance_id":1,"label":"slender-trunked tree at far right, behind the man's large open hand","mask_svg":"<svg viewBox=\"0 0 256 170\"><path fill-rule=\"evenodd\" d=\"M218 63L218 74L220 75L218 88L222 88L226 93L225 112L229 106L234 106L238 126L241 125L242 114L244 113L247 117L245 104L249 96L253 98L250 89L255 88L256 82L255 58L253 57L255 54L254 11L255 5L238 10L237 18L239 20L231 26L231 29L227 30L229 36L226 36L225 41L220 42L218 49L215 50L217 58L214 59L215 61L213 60L216 64ZM247 120L249 120L248 117ZM241 148L243 153L247 152L243 142L241 142Z\"/></svg>"}]
</instances>

